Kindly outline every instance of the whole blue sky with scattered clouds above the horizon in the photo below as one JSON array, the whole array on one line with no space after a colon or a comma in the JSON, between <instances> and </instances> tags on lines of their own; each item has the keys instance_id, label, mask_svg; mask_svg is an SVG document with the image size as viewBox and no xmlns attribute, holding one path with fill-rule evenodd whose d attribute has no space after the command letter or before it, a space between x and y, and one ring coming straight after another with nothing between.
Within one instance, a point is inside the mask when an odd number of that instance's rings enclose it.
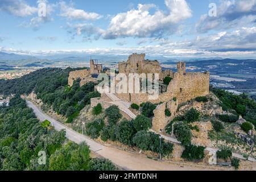
<instances>
[{"instance_id":1,"label":"whole blue sky with scattered clouds above the horizon","mask_svg":"<svg viewBox=\"0 0 256 182\"><path fill-rule=\"evenodd\" d=\"M7 53L256 59L256 0L0 0L0 23Z\"/></svg>"}]
</instances>

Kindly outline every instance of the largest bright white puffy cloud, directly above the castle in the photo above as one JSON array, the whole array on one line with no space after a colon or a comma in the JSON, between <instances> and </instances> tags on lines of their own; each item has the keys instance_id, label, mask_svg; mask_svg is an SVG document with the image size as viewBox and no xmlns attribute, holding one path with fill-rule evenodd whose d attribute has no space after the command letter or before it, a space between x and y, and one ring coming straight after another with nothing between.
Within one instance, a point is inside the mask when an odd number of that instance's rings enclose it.
<instances>
[{"instance_id":1,"label":"largest bright white puffy cloud, directly above the castle","mask_svg":"<svg viewBox=\"0 0 256 182\"><path fill-rule=\"evenodd\" d=\"M154 4L139 4L137 10L132 9L127 13L115 15L104 34L104 38L160 37L174 33L177 23L190 18L192 11L185 0L165 0L165 4L170 10L168 14L156 8ZM152 9L155 11L150 14Z\"/></svg>"}]
</instances>

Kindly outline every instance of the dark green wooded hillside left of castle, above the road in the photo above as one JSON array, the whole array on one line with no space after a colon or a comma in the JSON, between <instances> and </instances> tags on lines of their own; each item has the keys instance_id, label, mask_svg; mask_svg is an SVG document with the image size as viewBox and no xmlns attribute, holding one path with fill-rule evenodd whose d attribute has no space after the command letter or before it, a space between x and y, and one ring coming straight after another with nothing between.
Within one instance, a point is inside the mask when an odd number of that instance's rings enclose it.
<instances>
[{"instance_id":1,"label":"dark green wooded hillside left of castle, above the road","mask_svg":"<svg viewBox=\"0 0 256 182\"><path fill-rule=\"evenodd\" d=\"M73 70L44 68L13 80L0 80L0 93L8 96L34 91L48 109L67 117L67 122L71 123L80 110L90 104L90 98L100 97L100 93L94 92L92 82L80 88L80 80L75 80L73 86L68 86L69 72Z\"/></svg>"}]
</instances>

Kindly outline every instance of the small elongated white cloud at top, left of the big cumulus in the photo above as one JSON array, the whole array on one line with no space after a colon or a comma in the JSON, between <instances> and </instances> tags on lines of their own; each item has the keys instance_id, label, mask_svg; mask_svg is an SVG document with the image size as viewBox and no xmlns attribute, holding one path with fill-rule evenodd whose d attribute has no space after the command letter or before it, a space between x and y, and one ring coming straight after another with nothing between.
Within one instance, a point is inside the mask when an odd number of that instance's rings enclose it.
<instances>
[{"instance_id":1,"label":"small elongated white cloud at top, left of the big cumulus","mask_svg":"<svg viewBox=\"0 0 256 182\"><path fill-rule=\"evenodd\" d=\"M61 16L68 19L96 20L102 18L97 13L88 13L84 10L75 9L72 5L67 5L64 1L60 2Z\"/></svg>"}]
</instances>

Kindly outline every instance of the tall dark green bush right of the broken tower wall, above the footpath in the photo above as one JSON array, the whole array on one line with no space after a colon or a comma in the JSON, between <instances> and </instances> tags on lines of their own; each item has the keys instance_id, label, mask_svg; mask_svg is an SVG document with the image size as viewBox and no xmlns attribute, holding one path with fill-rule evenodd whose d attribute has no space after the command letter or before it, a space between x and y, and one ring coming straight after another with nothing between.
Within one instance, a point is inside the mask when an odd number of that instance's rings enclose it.
<instances>
[{"instance_id":1,"label":"tall dark green bush right of the broken tower wall, above the footpath","mask_svg":"<svg viewBox=\"0 0 256 182\"><path fill-rule=\"evenodd\" d=\"M183 123L174 125L174 135L184 146L191 144L192 133L189 126Z\"/></svg>"}]
</instances>

